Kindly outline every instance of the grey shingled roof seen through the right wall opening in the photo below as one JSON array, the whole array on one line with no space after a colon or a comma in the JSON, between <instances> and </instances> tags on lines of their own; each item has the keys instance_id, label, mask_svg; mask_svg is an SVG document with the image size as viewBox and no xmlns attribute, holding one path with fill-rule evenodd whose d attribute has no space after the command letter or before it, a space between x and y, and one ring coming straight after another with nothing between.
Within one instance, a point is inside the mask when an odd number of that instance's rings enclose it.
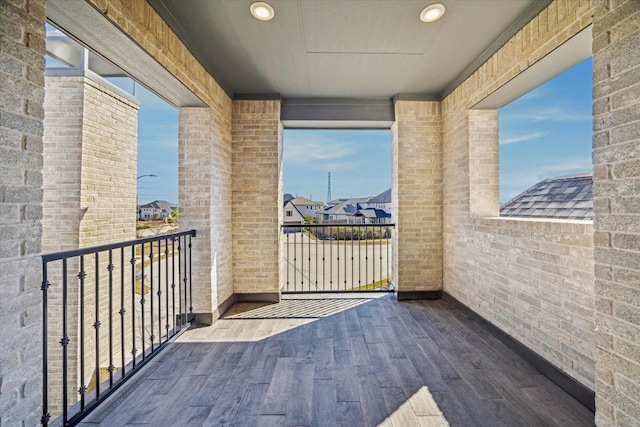
<instances>
[{"instance_id":1,"label":"grey shingled roof seen through the right wall opening","mask_svg":"<svg viewBox=\"0 0 640 427\"><path fill-rule=\"evenodd\" d=\"M504 203L500 216L593 220L593 177L580 174L540 181Z\"/></svg>"}]
</instances>

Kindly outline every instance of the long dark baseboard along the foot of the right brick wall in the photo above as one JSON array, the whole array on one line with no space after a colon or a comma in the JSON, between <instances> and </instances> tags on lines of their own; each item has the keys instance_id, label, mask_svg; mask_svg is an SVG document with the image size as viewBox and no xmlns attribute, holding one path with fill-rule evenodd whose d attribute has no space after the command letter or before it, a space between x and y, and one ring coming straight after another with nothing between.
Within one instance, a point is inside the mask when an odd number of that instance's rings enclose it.
<instances>
[{"instance_id":1,"label":"long dark baseboard along the foot of the right brick wall","mask_svg":"<svg viewBox=\"0 0 640 427\"><path fill-rule=\"evenodd\" d=\"M471 320L480 325L484 330L489 332L492 336L498 339L501 343L509 347L518 356L529 362L534 368L536 368L542 375L549 378L561 389L569 393L578 402L582 403L591 412L595 412L595 392L585 387L575 379L568 376L562 370L552 365L545 358L540 356L529 347L522 344L520 341L513 338L503 330L499 329L493 323L489 322L484 317L473 311L471 308L458 301L455 297L443 292L442 298L449 304L460 310Z\"/></svg>"}]
</instances>

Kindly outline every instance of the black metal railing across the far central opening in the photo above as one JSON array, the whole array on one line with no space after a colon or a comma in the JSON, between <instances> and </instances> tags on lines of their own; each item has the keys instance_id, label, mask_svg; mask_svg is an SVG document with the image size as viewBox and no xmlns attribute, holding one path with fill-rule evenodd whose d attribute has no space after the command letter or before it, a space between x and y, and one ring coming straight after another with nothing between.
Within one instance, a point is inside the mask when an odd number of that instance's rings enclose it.
<instances>
[{"instance_id":1,"label":"black metal railing across the far central opening","mask_svg":"<svg viewBox=\"0 0 640 427\"><path fill-rule=\"evenodd\" d=\"M286 224L283 292L393 291L394 224Z\"/></svg>"}]
</instances>

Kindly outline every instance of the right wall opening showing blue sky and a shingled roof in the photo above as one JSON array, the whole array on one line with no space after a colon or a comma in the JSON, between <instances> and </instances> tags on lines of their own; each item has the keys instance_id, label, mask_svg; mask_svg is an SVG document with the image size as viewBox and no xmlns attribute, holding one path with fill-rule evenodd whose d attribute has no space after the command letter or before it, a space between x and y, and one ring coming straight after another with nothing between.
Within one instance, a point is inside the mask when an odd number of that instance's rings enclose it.
<instances>
[{"instance_id":1,"label":"right wall opening showing blue sky and a shingled roof","mask_svg":"<svg viewBox=\"0 0 640 427\"><path fill-rule=\"evenodd\" d=\"M499 110L501 216L590 220L592 61Z\"/></svg>"}]
</instances>

